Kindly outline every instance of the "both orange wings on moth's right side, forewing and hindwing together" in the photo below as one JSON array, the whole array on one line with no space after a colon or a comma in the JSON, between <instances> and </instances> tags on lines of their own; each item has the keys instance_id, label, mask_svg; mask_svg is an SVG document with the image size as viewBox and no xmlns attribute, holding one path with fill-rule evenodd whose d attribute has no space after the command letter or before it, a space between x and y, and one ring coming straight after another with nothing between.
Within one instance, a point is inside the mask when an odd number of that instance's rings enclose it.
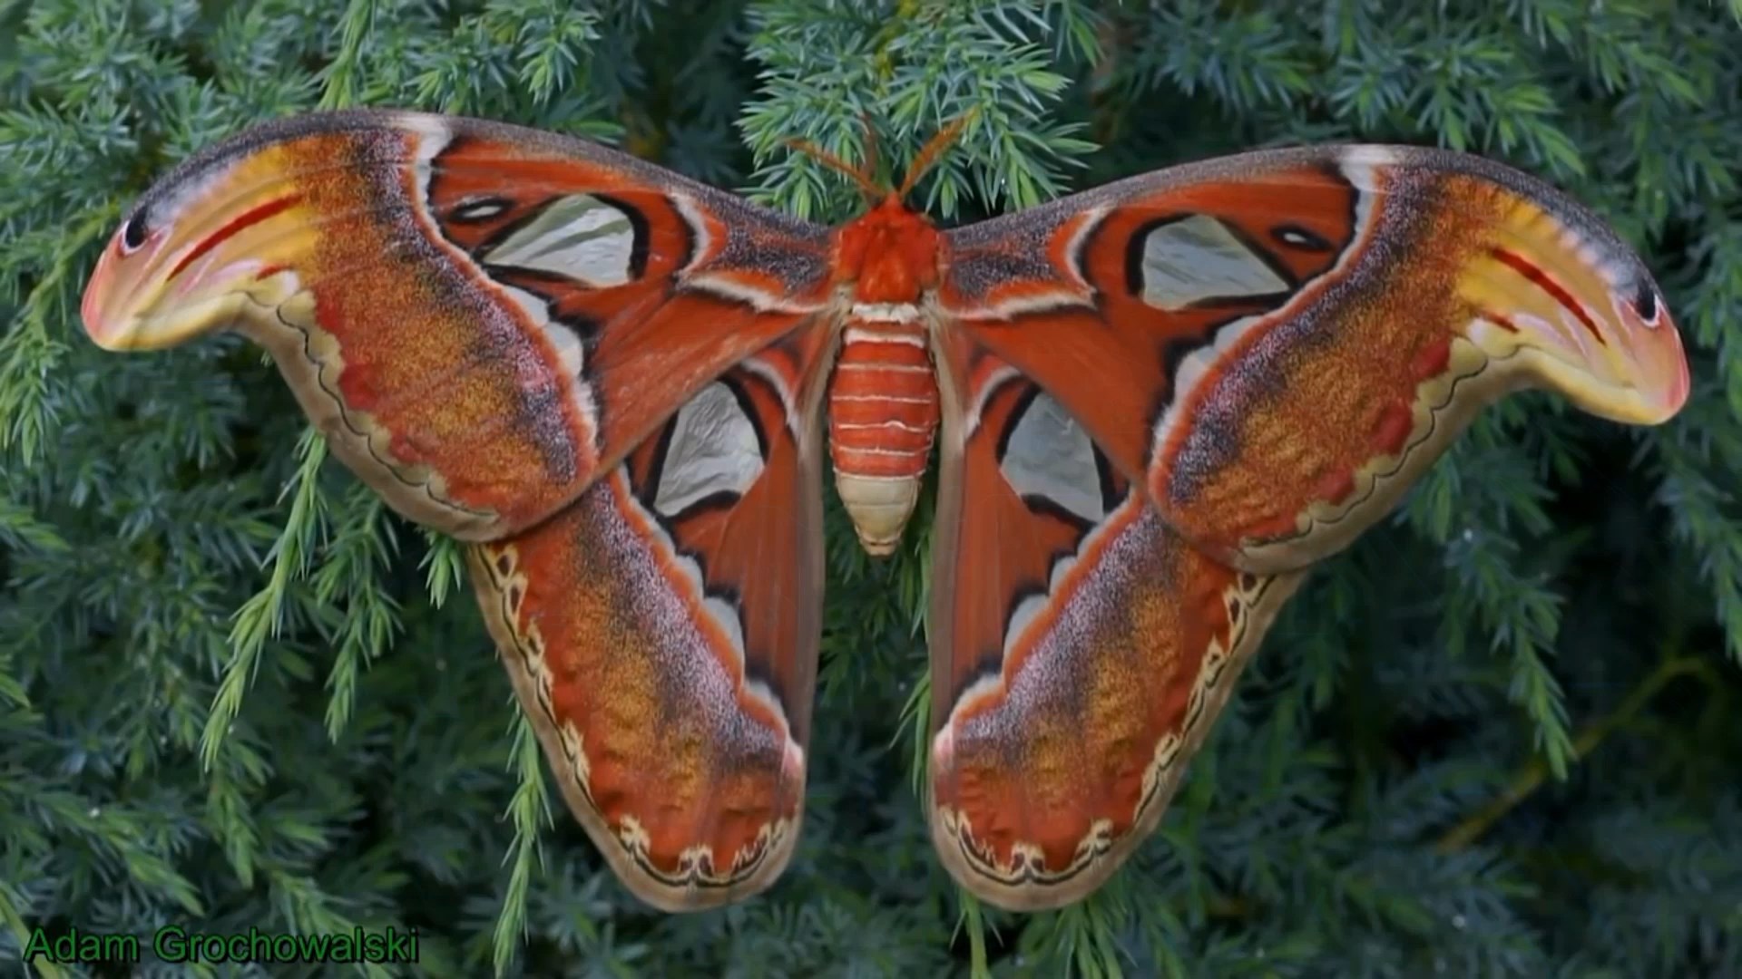
<instances>
[{"instance_id":1,"label":"both orange wings on moth's right side, forewing and hindwing together","mask_svg":"<svg viewBox=\"0 0 1742 979\"><path fill-rule=\"evenodd\" d=\"M1482 404L1688 395L1637 256L1474 157L1247 153L946 242L930 819L1005 908L1118 868L1305 568Z\"/></svg>"}]
</instances>

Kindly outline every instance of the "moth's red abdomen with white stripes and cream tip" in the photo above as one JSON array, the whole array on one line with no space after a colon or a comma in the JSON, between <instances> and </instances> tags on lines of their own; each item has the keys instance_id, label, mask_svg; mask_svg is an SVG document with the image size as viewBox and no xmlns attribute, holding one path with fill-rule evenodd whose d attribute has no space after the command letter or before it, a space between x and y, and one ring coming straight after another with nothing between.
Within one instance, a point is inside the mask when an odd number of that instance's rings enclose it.
<instances>
[{"instance_id":1,"label":"moth's red abdomen with white stripes and cream tip","mask_svg":"<svg viewBox=\"0 0 1742 979\"><path fill-rule=\"evenodd\" d=\"M834 488L859 544L888 554L908 526L937 435L937 376L909 303L859 303L829 383Z\"/></svg>"}]
</instances>

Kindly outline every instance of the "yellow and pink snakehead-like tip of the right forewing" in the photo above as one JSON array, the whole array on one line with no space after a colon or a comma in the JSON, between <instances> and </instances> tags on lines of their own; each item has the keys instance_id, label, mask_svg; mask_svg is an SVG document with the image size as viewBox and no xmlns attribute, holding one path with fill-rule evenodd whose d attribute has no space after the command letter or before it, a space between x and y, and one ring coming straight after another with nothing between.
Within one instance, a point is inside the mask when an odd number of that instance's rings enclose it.
<instances>
[{"instance_id":1,"label":"yellow and pink snakehead-like tip of the right forewing","mask_svg":"<svg viewBox=\"0 0 1742 979\"><path fill-rule=\"evenodd\" d=\"M1658 425L1688 401L1688 359L1651 273L1618 240L1514 225L1465 294L1491 359L1601 418Z\"/></svg>"}]
</instances>

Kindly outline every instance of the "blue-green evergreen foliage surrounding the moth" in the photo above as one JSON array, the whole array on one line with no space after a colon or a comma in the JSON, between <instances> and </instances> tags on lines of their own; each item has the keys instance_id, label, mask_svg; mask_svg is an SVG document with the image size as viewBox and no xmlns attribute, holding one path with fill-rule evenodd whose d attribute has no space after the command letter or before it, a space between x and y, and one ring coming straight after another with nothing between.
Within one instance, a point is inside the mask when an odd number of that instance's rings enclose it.
<instances>
[{"instance_id":1,"label":"blue-green evergreen foliage surrounding the moth","mask_svg":"<svg viewBox=\"0 0 1742 979\"><path fill-rule=\"evenodd\" d=\"M430 976L1742 976L1739 19L0 0L0 962L37 925L176 922L416 927ZM897 164L981 111L922 188L946 221L1259 145L1472 148L1646 251L1695 395L1657 430L1484 415L1294 599L1150 845L1035 916L963 904L913 791L927 535L873 564L831 498L798 857L662 916L545 787L456 549L324 462L258 350L78 327L153 176L341 105L598 136L831 221L854 192L779 141L855 155L866 111Z\"/></svg>"}]
</instances>

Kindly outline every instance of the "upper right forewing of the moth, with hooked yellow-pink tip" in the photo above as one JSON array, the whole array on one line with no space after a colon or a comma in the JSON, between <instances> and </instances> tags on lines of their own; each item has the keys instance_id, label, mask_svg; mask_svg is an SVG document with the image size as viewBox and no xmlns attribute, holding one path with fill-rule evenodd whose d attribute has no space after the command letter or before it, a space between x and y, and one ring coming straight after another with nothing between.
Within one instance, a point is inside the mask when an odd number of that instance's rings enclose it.
<instances>
[{"instance_id":1,"label":"upper right forewing of the moth, with hooked yellow-pink tip","mask_svg":"<svg viewBox=\"0 0 1742 979\"><path fill-rule=\"evenodd\" d=\"M1078 418L1171 528L1251 571L1348 545L1510 390L1631 423L1688 395L1634 251L1479 157L1246 153L948 244L941 315Z\"/></svg>"}]
</instances>

